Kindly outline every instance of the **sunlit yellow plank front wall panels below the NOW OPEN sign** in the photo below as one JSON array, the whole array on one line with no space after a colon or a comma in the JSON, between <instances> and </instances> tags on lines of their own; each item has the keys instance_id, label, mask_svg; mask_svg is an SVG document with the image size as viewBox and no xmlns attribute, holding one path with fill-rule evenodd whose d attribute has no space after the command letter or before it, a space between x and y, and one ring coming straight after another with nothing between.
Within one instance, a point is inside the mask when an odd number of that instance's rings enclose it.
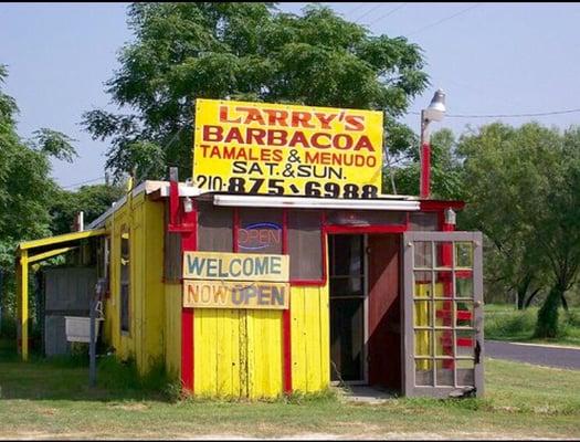
<instances>
[{"instance_id":1,"label":"sunlit yellow plank front wall panels below the NOW OPEN sign","mask_svg":"<svg viewBox=\"0 0 580 442\"><path fill-rule=\"evenodd\" d=\"M292 287L294 390L328 387L329 317L326 287ZM194 312L197 394L272 398L283 392L281 311L198 308Z\"/></svg>"}]
</instances>

